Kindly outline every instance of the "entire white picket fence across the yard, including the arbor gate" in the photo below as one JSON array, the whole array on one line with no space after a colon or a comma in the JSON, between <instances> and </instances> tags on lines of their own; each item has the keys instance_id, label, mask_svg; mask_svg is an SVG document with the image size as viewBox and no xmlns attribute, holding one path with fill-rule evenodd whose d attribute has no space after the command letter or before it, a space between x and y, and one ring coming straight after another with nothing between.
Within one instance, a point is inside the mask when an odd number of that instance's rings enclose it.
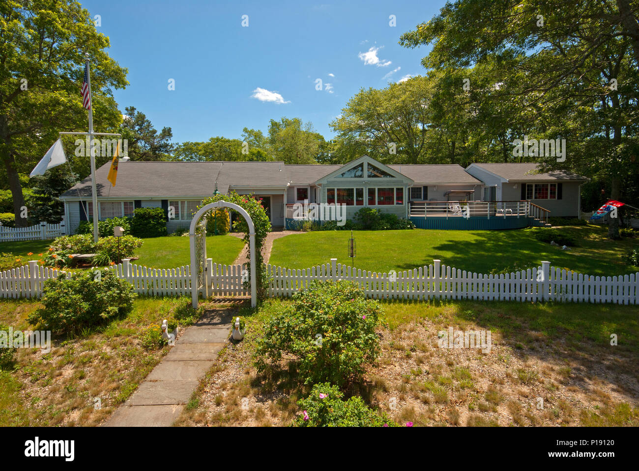
<instances>
[{"instance_id":1,"label":"entire white picket fence across the yard, including the arbor gate","mask_svg":"<svg viewBox=\"0 0 639 471\"><path fill-rule=\"evenodd\" d=\"M131 264L129 259L108 268L127 280L134 291L144 295L190 295L189 265L174 269L149 268ZM213 264L206 260L204 297L242 296L242 265ZM0 272L0 297L40 297L42 284L61 271L38 266L36 261ZM309 269L285 269L266 265L267 293L288 297L311 281L355 281L373 299L477 299L486 301L566 301L578 303L638 304L639 273L624 276L589 276L566 271L542 262L540 267L505 274L470 273L442 265L432 265L398 273L375 273L330 264Z\"/></svg>"}]
</instances>

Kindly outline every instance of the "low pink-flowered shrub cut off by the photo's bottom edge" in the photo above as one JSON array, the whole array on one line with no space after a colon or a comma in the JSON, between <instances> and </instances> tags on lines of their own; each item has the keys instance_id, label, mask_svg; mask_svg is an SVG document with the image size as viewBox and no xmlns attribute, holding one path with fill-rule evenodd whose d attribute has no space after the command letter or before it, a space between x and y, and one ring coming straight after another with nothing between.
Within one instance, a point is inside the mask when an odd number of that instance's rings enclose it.
<instances>
[{"instance_id":1,"label":"low pink-flowered shrub cut off by the photo's bottom edge","mask_svg":"<svg viewBox=\"0 0 639 471\"><path fill-rule=\"evenodd\" d=\"M321 396L320 396L321 394ZM362 398L342 400L343 394L328 383L316 384L305 399L297 401L302 408L295 426L298 427L383 427L397 426L386 414L369 408Z\"/></svg>"}]
</instances>

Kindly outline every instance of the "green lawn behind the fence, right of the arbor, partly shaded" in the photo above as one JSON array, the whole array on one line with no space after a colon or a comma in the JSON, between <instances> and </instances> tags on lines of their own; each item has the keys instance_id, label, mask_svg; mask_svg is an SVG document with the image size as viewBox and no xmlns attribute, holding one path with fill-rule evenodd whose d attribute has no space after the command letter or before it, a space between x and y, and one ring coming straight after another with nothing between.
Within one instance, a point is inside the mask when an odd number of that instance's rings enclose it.
<instances>
[{"instance_id":1,"label":"green lawn behind the fence, right of the arbor, partly shaded","mask_svg":"<svg viewBox=\"0 0 639 471\"><path fill-rule=\"evenodd\" d=\"M355 267L384 272L408 270L433 263L477 273L493 269L523 269L550 260L551 266L590 274L614 276L639 271L621 255L639 239L606 239L606 228L594 225L562 228L578 237L578 247L562 251L539 242L528 229L519 230L383 230L353 232L357 244ZM275 239L270 263L287 268L308 268L330 262L350 265L349 231L316 231Z\"/></svg>"}]
</instances>

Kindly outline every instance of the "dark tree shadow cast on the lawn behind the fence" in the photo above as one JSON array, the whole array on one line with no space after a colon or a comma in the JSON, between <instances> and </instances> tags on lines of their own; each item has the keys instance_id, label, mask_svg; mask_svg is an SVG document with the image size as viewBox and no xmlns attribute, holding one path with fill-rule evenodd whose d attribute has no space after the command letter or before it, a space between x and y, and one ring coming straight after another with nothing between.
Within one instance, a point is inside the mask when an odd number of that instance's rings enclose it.
<instances>
[{"instance_id":1,"label":"dark tree shadow cast on the lawn behind the fence","mask_svg":"<svg viewBox=\"0 0 639 471\"><path fill-rule=\"evenodd\" d=\"M634 273L622 259L605 260L587 257L574 251L563 251L532 237L530 231L509 230L474 234L473 240L451 241L433 246L431 257L424 256L411 264L399 264L400 270L412 270L432 265L433 259L442 260L442 265L475 273L509 272L541 266L549 260L553 267L566 268L578 273L594 276L619 276ZM454 255L438 255L454 253ZM594 256L599 255L594 253Z\"/></svg>"}]
</instances>

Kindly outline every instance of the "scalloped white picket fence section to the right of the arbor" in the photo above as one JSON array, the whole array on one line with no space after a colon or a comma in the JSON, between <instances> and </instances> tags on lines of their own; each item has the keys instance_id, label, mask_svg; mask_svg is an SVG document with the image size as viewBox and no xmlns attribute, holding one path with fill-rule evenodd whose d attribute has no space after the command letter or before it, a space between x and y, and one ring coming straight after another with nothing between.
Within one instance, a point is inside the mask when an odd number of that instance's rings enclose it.
<instances>
[{"instance_id":1,"label":"scalloped white picket fence section to the right of the arbor","mask_svg":"<svg viewBox=\"0 0 639 471\"><path fill-rule=\"evenodd\" d=\"M397 273L375 273L348 265L318 265L291 270L267 265L268 294L290 296L313 280L355 281L373 299L481 299L487 301L573 301L580 303L637 304L639 273L624 276L589 276L550 266L517 273L470 273L433 265ZM538 281L539 280L539 281Z\"/></svg>"}]
</instances>

